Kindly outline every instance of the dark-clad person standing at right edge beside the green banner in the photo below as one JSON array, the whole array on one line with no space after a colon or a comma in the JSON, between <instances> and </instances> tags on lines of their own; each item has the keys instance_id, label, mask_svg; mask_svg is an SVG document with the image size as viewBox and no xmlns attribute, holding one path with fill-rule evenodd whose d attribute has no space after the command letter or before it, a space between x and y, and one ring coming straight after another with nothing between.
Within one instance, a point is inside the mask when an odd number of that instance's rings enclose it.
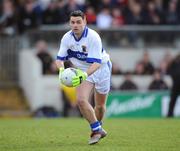
<instances>
[{"instance_id":1,"label":"dark-clad person standing at right edge beside the green banner","mask_svg":"<svg viewBox=\"0 0 180 151\"><path fill-rule=\"evenodd\" d=\"M168 117L174 116L174 107L178 96L180 95L180 53L173 59L168 67L168 73L170 74L173 86L171 88L171 97L169 103Z\"/></svg>"}]
</instances>

